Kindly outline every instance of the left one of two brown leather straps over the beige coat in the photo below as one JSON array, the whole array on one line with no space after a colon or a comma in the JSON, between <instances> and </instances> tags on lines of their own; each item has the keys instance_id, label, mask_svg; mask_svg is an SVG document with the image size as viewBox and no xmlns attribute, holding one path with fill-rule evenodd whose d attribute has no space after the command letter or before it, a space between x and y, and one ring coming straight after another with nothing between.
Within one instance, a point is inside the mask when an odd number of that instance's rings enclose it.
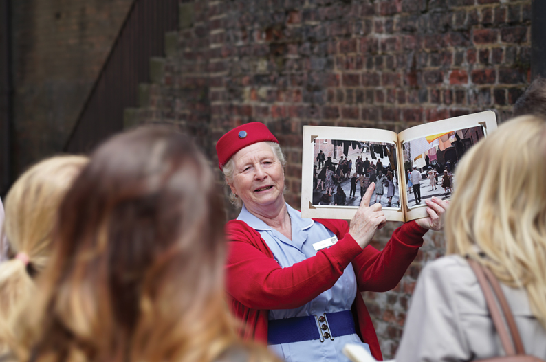
<instances>
[{"instance_id":1,"label":"left one of two brown leather straps over the beige coat","mask_svg":"<svg viewBox=\"0 0 546 362\"><path fill-rule=\"evenodd\" d=\"M512 338L510 338L510 334L508 333L503 318L501 317L501 310L499 310L499 306L496 305L493 291L487 279L485 278L483 269L481 265L475 260L472 260L470 258L467 258L467 260L470 268L472 268L474 274L476 274L478 283L481 286L483 296L485 297L485 302L487 303L489 308L489 313L491 313L491 319L493 319L493 324L496 328L496 332L499 333L499 337L501 338L501 343L503 344L504 351L506 352L507 356L514 356L516 354L516 351L514 350L514 345L512 344Z\"/></svg>"}]
</instances>

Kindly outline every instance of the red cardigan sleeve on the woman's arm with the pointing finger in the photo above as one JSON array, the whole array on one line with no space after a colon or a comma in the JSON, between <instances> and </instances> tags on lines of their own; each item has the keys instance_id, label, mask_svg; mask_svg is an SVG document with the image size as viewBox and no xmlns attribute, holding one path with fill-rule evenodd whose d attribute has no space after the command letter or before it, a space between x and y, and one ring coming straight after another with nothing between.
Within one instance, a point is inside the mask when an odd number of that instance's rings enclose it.
<instances>
[{"instance_id":1,"label":"red cardigan sleeve on the woman's arm with the pointing finger","mask_svg":"<svg viewBox=\"0 0 546 362\"><path fill-rule=\"evenodd\" d=\"M227 228L226 264L228 293L253 309L290 309L310 302L334 286L347 265L362 252L358 243L345 234L316 256L281 268L265 245L267 249L256 246L254 233L258 234L240 224Z\"/></svg>"}]
</instances>

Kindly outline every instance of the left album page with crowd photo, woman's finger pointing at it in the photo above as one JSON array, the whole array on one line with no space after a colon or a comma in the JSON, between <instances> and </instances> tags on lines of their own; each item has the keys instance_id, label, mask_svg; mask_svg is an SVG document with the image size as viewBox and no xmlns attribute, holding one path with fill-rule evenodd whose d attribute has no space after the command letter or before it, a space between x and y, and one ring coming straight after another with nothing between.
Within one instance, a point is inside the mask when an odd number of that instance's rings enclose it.
<instances>
[{"instance_id":1,"label":"left album page with crowd photo, woman's finger pointing at it","mask_svg":"<svg viewBox=\"0 0 546 362\"><path fill-rule=\"evenodd\" d=\"M375 179L370 203L381 203L387 220L403 221L398 153L397 135L391 131L304 126L302 217L350 220Z\"/></svg>"}]
</instances>

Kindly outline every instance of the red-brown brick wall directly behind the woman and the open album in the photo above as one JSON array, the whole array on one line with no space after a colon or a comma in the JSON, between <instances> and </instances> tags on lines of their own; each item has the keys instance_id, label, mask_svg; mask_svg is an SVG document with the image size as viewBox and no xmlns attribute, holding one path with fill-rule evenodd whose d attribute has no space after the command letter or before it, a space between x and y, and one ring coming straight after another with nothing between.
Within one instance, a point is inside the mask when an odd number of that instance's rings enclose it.
<instances>
[{"instance_id":1,"label":"red-brown brick wall directly behind the woman and the open album","mask_svg":"<svg viewBox=\"0 0 546 362\"><path fill-rule=\"evenodd\" d=\"M529 82L530 9L531 0L184 1L162 77L133 116L179 124L212 158L225 131L264 122L287 155L287 201L299 207L305 124L398 132L485 109L510 117ZM378 233L378 247L395 226ZM442 235L428 233L394 291L366 293L384 357L419 271L443 253Z\"/></svg>"}]
</instances>

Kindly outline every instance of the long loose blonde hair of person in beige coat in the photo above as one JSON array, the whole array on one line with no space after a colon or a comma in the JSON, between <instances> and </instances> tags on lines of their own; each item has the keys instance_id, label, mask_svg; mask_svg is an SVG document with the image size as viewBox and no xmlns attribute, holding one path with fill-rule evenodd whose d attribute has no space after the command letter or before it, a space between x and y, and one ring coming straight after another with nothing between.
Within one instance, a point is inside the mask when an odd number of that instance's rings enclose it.
<instances>
[{"instance_id":1,"label":"long loose blonde hair of person in beige coat","mask_svg":"<svg viewBox=\"0 0 546 362\"><path fill-rule=\"evenodd\" d=\"M468 255L525 288L546 328L545 165L546 121L535 116L501 124L472 147L457 166L446 253Z\"/></svg>"}]
</instances>

